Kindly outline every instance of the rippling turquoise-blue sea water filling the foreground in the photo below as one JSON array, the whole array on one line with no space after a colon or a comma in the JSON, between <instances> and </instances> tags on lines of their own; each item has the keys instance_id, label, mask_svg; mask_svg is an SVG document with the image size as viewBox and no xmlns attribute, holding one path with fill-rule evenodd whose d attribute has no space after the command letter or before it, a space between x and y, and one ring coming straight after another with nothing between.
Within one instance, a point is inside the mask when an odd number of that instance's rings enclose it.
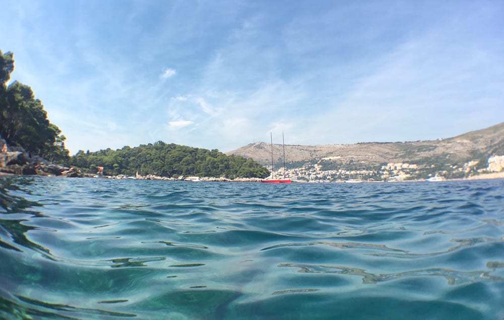
<instances>
[{"instance_id":1,"label":"rippling turquoise-blue sea water filling the foreground","mask_svg":"<svg viewBox=\"0 0 504 320\"><path fill-rule=\"evenodd\" d=\"M0 317L498 319L504 181L0 178Z\"/></svg>"}]
</instances>

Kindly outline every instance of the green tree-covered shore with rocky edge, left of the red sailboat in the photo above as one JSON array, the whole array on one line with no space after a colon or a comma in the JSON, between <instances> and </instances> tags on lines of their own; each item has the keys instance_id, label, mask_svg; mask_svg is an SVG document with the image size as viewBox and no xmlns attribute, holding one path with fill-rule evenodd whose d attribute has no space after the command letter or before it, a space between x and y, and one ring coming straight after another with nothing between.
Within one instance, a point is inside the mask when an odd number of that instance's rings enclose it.
<instances>
[{"instance_id":1,"label":"green tree-covered shore with rocky edge, left of the red sailboat","mask_svg":"<svg viewBox=\"0 0 504 320\"><path fill-rule=\"evenodd\" d=\"M33 90L18 81L7 86L13 71L14 54L0 50L0 172L67 177L140 173L168 178L216 176L226 180L261 179L270 174L252 159L162 141L117 150L80 150L70 156L66 137L49 121Z\"/></svg>"}]
</instances>

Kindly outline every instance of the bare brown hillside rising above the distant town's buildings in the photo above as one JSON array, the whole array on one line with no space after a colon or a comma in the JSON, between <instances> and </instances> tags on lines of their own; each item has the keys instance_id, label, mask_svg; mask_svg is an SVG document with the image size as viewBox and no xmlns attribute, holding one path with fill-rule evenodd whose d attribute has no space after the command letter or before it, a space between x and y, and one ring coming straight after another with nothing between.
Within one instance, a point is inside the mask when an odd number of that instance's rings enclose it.
<instances>
[{"instance_id":1,"label":"bare brown hillside rising above the distant town's buildings","mask_svg":"<svg viewBox=\"0 0 504 320\"><path fill-rule=\"evenodd\" d=\"M361 164L375 167L389 162L409 163L462 163L473 159L484 160L504 154L504 122L483 130L468 132L437 141L358 143L353 145L286 145L288 167L301 166L310 161L336 164ZM271 164L271 146L256 142L227 154L252 158L263 165ZM273 145L276 164L282 162L282 145ZM486 159L485 159L486 158Z\"/></svg>"}]
</instances>

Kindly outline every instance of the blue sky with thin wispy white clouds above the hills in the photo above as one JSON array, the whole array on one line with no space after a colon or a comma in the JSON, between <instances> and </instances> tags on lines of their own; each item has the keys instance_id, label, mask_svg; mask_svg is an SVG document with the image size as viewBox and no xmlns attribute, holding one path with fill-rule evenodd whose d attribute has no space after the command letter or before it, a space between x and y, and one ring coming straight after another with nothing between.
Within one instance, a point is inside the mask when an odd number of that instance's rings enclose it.
<instances>
[{"instance_id":1,"label":"blue sky with thin wispy white clouds above the hills","mask_svg":"<svg viewBox=\"0 0 504 320\"><path fill-rule=\"evenodd\" d=\"M502 1L14 1L11 79L67 147L448 138L504 121Z\"/></svg>"}]
</instances>

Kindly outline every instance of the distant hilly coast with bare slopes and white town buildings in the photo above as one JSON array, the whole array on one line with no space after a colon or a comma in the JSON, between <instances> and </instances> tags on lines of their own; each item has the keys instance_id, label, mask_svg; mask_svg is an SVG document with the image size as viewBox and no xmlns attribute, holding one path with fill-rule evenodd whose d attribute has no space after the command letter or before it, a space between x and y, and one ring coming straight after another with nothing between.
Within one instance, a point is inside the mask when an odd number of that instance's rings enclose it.
<instances>
[{"instance_id":1,"label":"distant hilly coast with bare slopes and white town buildings","mask_svg":"<svg viewBox=\"0 0 504 320\"><path fill-rule=\"evenodd\" d=\"M273 145L283 174L282 145ZM504 122L453 138L353 145L285 145L285 174L293 180L413 181L493 177L504 172ZM256 142L228 155L251 158L271 169L271 146ZM496 173L496 175L493 175Z\"/></svg>"}]
</instances>

